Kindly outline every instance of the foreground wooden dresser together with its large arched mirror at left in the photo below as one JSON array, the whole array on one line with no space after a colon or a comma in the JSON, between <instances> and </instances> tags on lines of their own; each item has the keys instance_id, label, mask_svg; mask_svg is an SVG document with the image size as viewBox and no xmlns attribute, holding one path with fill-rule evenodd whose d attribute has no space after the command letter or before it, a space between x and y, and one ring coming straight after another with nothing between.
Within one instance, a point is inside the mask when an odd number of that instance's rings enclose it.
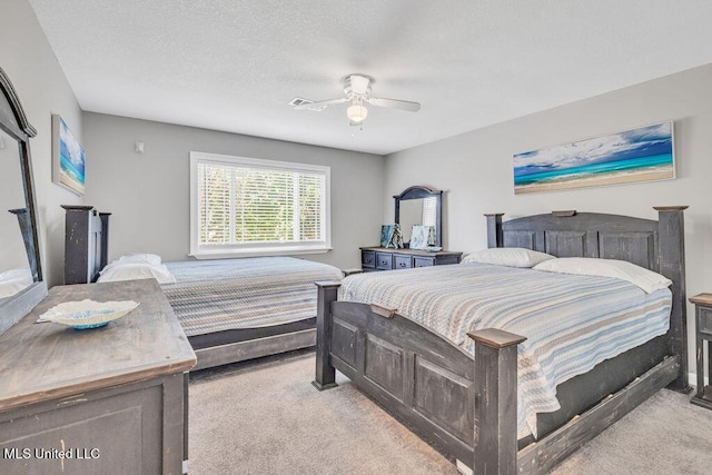
<instances>
[{"instance_id":1,"label":"foreground wooden dresser together with its large arched mirror at left","mask_svg":"<svg viewBox=\"0 0 712 475\"><path fill-rule=\"evenodd\" d=\"M155 280L48 291L30 156L36 133L0 68L0 472L185 473L195 353ZM99 328L38 323L85 299L139 305Z\"/></svg>"}]
</instances>

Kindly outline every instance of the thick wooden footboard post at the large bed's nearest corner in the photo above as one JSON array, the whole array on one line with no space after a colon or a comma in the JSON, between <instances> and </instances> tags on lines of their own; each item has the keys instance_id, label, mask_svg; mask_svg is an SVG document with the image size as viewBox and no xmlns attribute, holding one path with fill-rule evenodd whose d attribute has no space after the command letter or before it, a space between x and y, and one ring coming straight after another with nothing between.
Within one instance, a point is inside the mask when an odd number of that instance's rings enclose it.
<instances>
[{"instance_id":1,"label":"thick wooden footboard post at the large bed's nearest corner","mask_svg":"<svg viewBox=\"0 0 712 475\"><path fill-rule=\"evenodd\" d=\"M496 328L467 336L475 340L473 472L476 475L516 474L516 346L526 338Z\"/></svg>"}]
</instances>

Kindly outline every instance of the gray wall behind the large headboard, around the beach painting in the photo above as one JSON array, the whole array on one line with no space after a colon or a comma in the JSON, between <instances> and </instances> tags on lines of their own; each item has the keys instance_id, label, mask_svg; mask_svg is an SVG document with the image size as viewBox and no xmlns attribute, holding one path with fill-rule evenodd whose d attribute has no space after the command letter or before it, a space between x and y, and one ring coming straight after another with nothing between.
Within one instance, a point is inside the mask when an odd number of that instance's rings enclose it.
<instances>
[{"instance_id":1,"label":"gray wall behind the large headboard, around the beach painting","mask_svg":"<svg viewBox=\"0 0 712 475\"><path fill-rule=\"evenodd\" d=\"M655 219L653 206L689 205L688 295L711 291L710 85L712 65L389 155L384 195L396 195L412 185L445 190L444 246L463 251L486 247L485 212L505 212L507 219L577 209ZM674 180L514 195L514 154L671 119L678 174ZM393 199L385 199L384 219L392 216ZM692 306L688 315L692 362Z\"/></svg>"}]
</instances>

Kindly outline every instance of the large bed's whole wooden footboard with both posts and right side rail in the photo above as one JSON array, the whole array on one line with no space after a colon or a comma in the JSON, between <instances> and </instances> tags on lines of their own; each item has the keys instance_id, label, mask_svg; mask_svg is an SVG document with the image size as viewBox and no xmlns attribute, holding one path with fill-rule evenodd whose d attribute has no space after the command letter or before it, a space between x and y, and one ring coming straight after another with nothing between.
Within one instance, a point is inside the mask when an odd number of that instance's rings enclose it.
<instances>
[{"instance_id":1,"label":"large bed's whole wooden footboard with both posts and right side rail","mask_svg":"<svg viewBox=\"0 0 712 475\"><path fill-rule=\"evenodd\" d=\"M314 386L338 369L389 414L474 474L543 474L679 377L671 356L546 437L517 451L516 345L498 329L469 334L475 357L395 310L337 301L338 283L317 283Z\"/></svg>"}]
</instances>

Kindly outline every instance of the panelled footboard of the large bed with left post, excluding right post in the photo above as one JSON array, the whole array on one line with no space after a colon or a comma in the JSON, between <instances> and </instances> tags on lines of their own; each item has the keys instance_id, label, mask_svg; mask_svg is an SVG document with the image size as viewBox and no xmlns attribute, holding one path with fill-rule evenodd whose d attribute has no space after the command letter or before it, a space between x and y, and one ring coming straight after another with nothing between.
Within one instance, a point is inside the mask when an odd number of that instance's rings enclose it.
<instances>
[{"instance_id":1,"label":"panelled footboard of the large bed with left post, excluding right post","mask_svg":"<svg viewBox=\"0 0 712 475\"><path fill-rule=\"evenodd\" d=\"M472 458L472 356L392 310L336 301L338 283L317 285L314 385L335 386L336 368L441 451Z\"/></svg>"}]
</instances>

